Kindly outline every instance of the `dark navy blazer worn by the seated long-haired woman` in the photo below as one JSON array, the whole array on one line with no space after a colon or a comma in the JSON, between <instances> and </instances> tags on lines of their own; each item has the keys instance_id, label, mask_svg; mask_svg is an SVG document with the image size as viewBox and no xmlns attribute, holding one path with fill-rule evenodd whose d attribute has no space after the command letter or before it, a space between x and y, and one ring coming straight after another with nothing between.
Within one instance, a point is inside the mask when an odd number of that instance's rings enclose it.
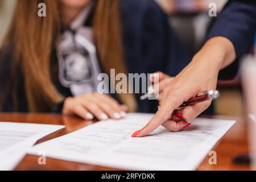
<instances>
[{"instance_id":1,"label":"dark navy blazer worn by the seated long-haired woman","mask_svg":"<svg viewBox=\"0 0 256 182\"><path fill-rule=\"evenodd\" d=\"M125 53L126 66L129 73L154 73L162 71L170 76L175 76L189 63L191 57L187 56L183 46L170 27L168 16L154 0L122 0L122 31L123 47ZM8 73L10 72L11 47L5 48L2 55L2 81L0 82L0 93L6 86ZM52 64L56 64L56 59L52 59ZM72 96L69 89L60 85L56 81L56 88L64 97ZM19 69L18 79L18 111L28 111L26 92L22 71ZM139 111L155 112L157 101L141 101L141 94L135 94ZM113 96L115 97L115 96ZM6 98L3 111L14 111L11 94ZM51 110L46 110L51 111ZM61 111L61 104L53 108L52 111Z\"/></svg>"}]
</instances>

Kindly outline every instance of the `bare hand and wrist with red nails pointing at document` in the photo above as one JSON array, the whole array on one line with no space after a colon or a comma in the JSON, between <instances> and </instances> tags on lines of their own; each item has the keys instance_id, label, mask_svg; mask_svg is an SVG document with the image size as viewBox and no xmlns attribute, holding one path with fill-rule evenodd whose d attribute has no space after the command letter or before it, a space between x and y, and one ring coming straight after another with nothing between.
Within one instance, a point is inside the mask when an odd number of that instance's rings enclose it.
<instances>
[{"instance_id":1,"label":"bare hand and wrist with red nails pointing at document","mask_svg":"<svg viewBox=\"0 0 256 182\"><path fill-rule=\"evenodd\" d=\"M164 85L165 89L160 94L160 109L142 130L133 134L133 137L144 137L160 125L170 131L182 130L188 123L172 114L173 111L197 93L216 89L218 72L235 59L236 51L229 39L221 36L209 39L191 63L174 80ZM192 121L209 105L210 101L205 101L185 107L179 110L179 113L187 121Z\"/></svg>"}]
</instances>

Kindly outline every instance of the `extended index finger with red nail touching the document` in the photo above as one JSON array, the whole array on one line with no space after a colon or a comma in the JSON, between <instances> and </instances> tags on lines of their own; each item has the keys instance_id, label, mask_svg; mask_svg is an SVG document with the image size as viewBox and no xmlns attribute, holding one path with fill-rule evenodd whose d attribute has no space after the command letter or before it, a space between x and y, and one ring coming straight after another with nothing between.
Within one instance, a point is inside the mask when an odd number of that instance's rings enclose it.
<instances>
[{"instance_id":1,"label":"extended index finger with red nail touching the document","mask_svg":"<svg viewBox=\"0 0 256 182\"><path fill-rule=\"evenodd\" d=\"M132 137L144 137L154 131L157 127L162 125L163 122L171 118L172 112L174 111L174 104L168 105L165 102L162 107L156 112L154 117L150 119L146 126L142 130L136 131Z\"/></svg>"}]
</instances>

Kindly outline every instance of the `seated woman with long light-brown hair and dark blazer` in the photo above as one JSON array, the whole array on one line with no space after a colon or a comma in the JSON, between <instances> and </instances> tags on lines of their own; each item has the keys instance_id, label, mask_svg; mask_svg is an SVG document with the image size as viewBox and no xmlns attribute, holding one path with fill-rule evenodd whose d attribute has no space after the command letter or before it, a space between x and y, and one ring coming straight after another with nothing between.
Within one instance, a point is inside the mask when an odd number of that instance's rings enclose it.
<instances>
[{"instance_id":1,"label":"seated woman with long light-brown hair and dark blazer","mask_svg":"<svg viewBox=\"0 0 256 182\"><path fill-rule=\"evenodd\" d=\"M38 5L46 5L46 17ZM18 0L1 50L0 110L120 119L156 110L139 94L100 94L97 75L178 73L189 60L154 1Z\"/></svg>"}]
</instances>

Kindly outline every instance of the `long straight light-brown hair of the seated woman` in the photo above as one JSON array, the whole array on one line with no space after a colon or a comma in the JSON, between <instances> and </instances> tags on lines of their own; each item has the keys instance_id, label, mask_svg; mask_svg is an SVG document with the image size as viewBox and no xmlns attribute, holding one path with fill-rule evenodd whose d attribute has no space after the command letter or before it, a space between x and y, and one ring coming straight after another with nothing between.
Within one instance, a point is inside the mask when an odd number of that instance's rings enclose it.
<instances>
[{"instance_id":1,"label":"long straight light-brown hair of the seated woman","mask_svg":"<svg viewBox=\"0 0 256 182\"><path fill-rule=\"evenodd\" d=\"M47 17L45 18L38 16L39 3L46 4ZM96 1L93 23L94 42L102 67L108 74L111 68L115 68L117 73L127 73L120 21L119 0ZM3 46L7 46L10 42L15 43L9 81L15 88L16 68L20 65L24 74L28 109L31 112L49 110L63 101L63 96L53 84L50 65L60 26L57 1L18 0ZM118 97L131 111L135 110L136 103L132 94L119 94ZM15 92L13 101L17 106L18 98Z\"/></svg>"}]
</instances>

